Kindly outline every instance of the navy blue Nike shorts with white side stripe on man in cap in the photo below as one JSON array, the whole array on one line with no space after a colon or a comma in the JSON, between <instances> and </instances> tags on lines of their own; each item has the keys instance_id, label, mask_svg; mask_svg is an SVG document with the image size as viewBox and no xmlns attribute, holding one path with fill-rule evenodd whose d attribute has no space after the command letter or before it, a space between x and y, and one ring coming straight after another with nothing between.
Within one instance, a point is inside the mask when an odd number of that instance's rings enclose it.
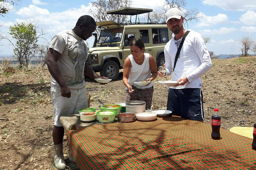
<instances>
[{"instance_id":1,"label":"navy blue Nike shorts with white side stripe on man in cap","mask_svg":"<svg viewBox=\"0 0 256 170\"><path fill-rule=\"evenodd\" d=\"M167 110L172 115L190 120L204 120L203 93L201 89L169 88Z\"/></svg>"}]
</instances>

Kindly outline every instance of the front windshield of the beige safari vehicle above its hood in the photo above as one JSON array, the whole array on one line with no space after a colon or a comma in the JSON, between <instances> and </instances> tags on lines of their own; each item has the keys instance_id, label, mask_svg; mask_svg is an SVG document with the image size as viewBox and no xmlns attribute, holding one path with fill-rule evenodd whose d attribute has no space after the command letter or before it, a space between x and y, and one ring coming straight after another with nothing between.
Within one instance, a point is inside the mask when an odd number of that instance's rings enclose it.
<instances>
[{"instance_id":1,"label":"front windshield of the beige safari vehicle above its hood","mask_svg":"<svg viewBox=\"0 0 256 170\"><path fill-rule=\"evenodd\" d=\"M123 28L101 30L98 43L119 42L121 41L122 35Z\"/></svg>"}]
</instances>

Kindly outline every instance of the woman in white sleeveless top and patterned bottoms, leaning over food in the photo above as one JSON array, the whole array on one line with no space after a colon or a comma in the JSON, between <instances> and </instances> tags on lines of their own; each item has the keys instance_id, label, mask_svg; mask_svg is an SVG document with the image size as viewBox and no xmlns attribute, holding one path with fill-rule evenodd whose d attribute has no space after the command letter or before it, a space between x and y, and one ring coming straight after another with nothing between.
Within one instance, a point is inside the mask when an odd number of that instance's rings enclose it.
<instances>
[{"instance_id":1,"label":"woman in white sleeveless top and patterned bottoms, leaning over food","mask_svg":"<svg viewBox=\"0 0 256 170\"><path fill-rule=\"evenodd\" d=\"M131 55L124 61L123 83L126 86L126 102L140 100L146 102L146 109L151 108L153 98L153 80L158 75L156 61L149 53L144 53L145 46L141 39L130 43ZM149 81L145 86L134 84L136 81Z\"/></svg>"}]
</instances>

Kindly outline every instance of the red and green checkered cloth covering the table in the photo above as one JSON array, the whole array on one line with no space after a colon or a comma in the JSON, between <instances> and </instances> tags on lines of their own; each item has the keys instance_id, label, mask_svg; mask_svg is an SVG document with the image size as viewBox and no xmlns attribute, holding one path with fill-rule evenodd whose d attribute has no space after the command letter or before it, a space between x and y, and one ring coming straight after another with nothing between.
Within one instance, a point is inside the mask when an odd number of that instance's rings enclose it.
<instances>
[{"instance_id":1,"label":"red and green checkered cloth covering the table","mask_svg":"<svg viewBox=\"0 0 256 170\"><path fill-rule=\"evenodd\" d=\"M81 170L255 170L252 139L179 117L110 123L68 130L74 162Z\"/></svg>"}]
</instances>

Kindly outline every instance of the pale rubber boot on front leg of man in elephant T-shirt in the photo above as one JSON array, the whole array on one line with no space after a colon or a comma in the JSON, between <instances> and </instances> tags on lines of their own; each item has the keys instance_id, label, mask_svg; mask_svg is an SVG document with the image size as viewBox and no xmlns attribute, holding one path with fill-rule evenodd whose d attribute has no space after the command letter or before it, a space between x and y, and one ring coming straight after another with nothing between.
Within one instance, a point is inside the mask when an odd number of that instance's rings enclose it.
<instances>
[{"instance_id":1,"label":"pale rubber boot on front leg of man in elephant T-shirt","mask_svg":"<svg viewBox=\"0 0 256 170\"><path fill-rule=\"evenodd\" d=\"M63 143L53 145L54 163L57 169L65 169L66 162L63 156Z\"/></svg>"}]
</instances>

